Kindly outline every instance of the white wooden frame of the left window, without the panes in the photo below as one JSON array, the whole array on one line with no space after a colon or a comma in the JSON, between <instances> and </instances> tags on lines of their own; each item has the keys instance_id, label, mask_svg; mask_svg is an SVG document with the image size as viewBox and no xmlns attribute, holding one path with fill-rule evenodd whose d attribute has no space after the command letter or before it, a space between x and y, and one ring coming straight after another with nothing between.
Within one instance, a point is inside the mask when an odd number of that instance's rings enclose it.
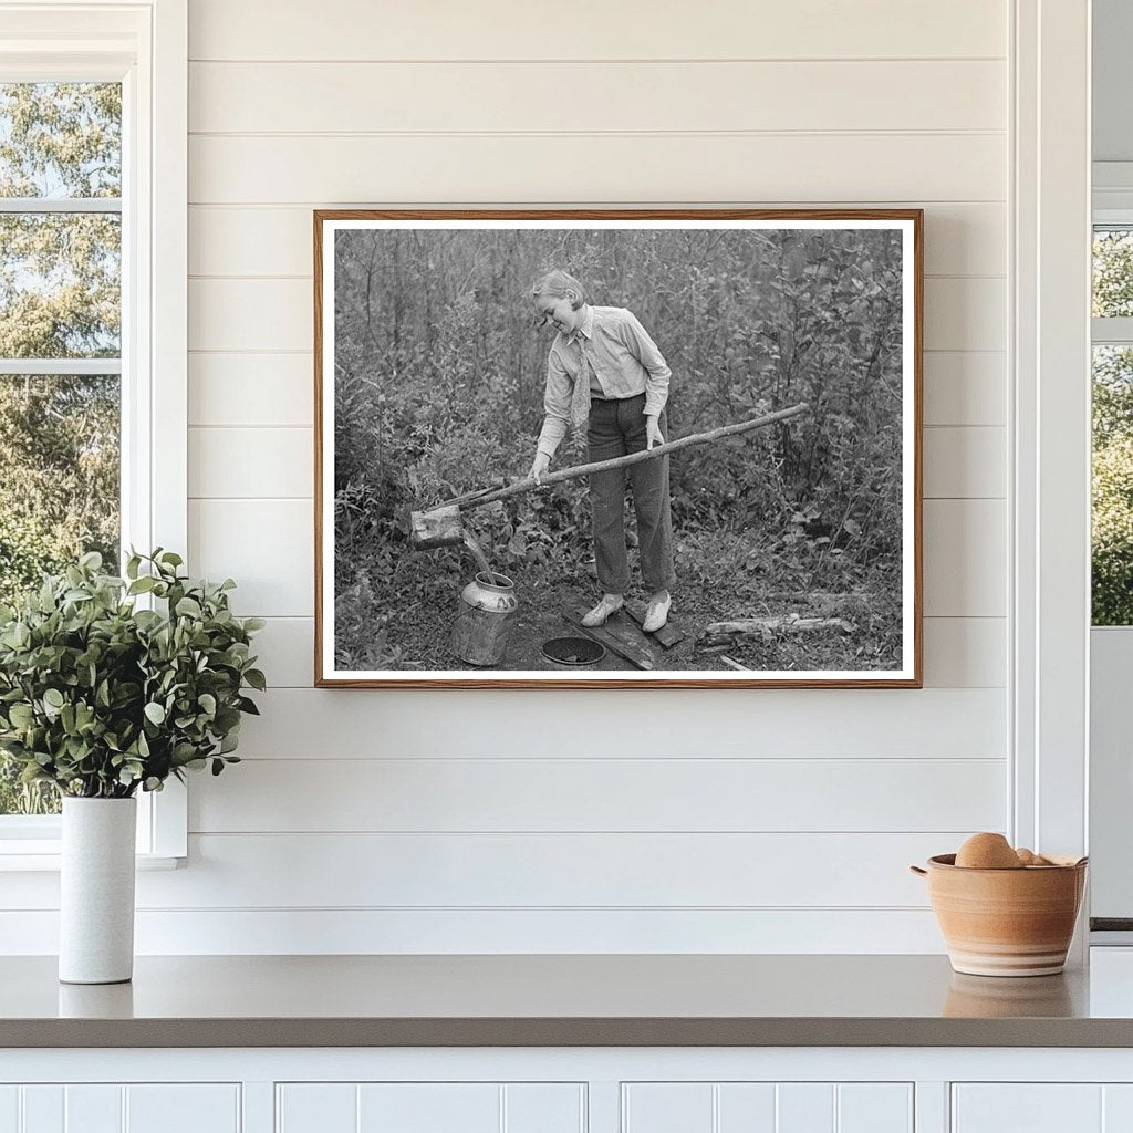
<instances>
[{"instance_id":1,"label":"white wooden frame of the left window, without the panes","mask_svg":"<svg viewBox=\"0 0 1133 1133\"><path fill-rule=\"evenodd\" d=\"M122 84L122 547L188 546L187 0L0 0L0 82ZM26 364L25 364L26 365ZM26 372L26 370L25 370ZM123 560L125 561L125 560ZM139 861L187 854L176 780L138 794ZM59 868L58 816L0 816L0 871Z\"/></svg>"}]
</instances>

